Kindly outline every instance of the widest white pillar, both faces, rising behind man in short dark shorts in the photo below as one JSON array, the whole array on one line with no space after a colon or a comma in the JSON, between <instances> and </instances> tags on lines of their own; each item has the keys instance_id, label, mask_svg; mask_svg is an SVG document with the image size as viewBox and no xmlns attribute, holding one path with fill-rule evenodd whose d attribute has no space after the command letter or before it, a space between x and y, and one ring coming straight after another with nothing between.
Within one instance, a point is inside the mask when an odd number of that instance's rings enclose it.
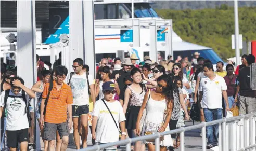
<instances>
[{"instance_id":1,"label":"widest white pillar, both faces, rising behind man in short dark shorts","mask_svg":"<svg viewBox=\"0 0 256 151\"><path fill-rule=\"evenodd\" d=\"M69 14L69 65L73 64L75 58L82 58L89 66L90 73L95 75L93 1L70 1Z\"/></svg>"}]
</instances>

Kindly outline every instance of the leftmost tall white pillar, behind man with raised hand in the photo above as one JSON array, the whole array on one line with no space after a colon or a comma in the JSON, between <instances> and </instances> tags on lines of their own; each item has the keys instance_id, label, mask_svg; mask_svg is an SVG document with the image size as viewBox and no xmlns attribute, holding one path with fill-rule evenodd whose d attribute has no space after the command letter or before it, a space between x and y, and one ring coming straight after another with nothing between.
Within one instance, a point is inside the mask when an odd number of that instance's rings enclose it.
<instances>
[{"instance_id":1,"label":"leftmost tall white pillar, behind man with raised hand","mask_svg":"<svg viewBox=\"0 0 256 151\"><path fill-rule=\"evenodd\" d=\"M17 1L17 74L31 88L36 81L36 42L35 42L35 1ZM35 100L31 105L35 111ZM34 119L37 125L36 119ZM35 126L36 149L40 147L38 126Z\"/></svg>"}]
</instances>

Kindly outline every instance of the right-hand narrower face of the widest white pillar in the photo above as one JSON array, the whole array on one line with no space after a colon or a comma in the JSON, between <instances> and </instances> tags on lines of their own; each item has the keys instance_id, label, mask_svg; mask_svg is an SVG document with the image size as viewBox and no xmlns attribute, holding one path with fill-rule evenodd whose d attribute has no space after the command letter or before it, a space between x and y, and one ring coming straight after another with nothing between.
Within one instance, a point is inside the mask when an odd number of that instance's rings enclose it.
<instances>
[{"instance_id":1,"label":"right-hand narrower face of the widest white pillar","mask_svg":"<svg viewBox=\"0 0 256 151\"><path fill-rule=\"evenodd\" d=\"M94 46L94 3L93 1L83 1L83 11L86 15L83 16L84 29L84 54L85 64L90 68L90 74L96 76L95 65L95 46Z\"/></svg>"}]
</instances>

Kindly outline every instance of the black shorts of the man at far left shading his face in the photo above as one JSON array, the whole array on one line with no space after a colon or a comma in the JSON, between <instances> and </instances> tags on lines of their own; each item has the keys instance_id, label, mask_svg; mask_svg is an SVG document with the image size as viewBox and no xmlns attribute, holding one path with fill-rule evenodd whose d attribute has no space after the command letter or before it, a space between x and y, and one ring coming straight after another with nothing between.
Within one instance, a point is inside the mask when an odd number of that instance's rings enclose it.
<instances>
[{"instance_id":1,"label":"black shorts of the man at far left shading his face","mask_svg":"<svg viewBox=\"0 0 256 151\"><path fill-rule=\"evenodd\" d=\"M18 142L29 142L29 129L6 131L9 148L18 148Z\"/></svg>"}]
</instances>

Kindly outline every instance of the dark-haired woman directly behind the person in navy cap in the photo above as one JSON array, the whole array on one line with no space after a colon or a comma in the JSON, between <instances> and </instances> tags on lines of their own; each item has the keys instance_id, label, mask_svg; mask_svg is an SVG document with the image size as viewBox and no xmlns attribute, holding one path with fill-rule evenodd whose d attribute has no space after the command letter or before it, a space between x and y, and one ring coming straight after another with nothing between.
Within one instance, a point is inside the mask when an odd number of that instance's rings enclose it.
<instances>
[{"instance_id":1,"label":"dark-haired woman directly behind the person in navy cap","mask_svg":"<svg viewBox=\"0 0 256 151\"><path fill-rule=\"evenodd\" d=\"M99 95L99 100L104 98L104 94L103 94L103 89L102 89L102 85L106 82L111 81L112 83L114 83L114 87L117 91L117 94L113 95L113 99L115 98L115 95L119 95L120 94L120 90L119 90L119 86L117 81L115 81L114 79L110 79L110 68L108 66L104 66L104 67L100 67L99 68L99 73L100 73L100 77L101 80L96 79L96 83L95 83L95 96Z\"/></svg>"}]
</instances>

